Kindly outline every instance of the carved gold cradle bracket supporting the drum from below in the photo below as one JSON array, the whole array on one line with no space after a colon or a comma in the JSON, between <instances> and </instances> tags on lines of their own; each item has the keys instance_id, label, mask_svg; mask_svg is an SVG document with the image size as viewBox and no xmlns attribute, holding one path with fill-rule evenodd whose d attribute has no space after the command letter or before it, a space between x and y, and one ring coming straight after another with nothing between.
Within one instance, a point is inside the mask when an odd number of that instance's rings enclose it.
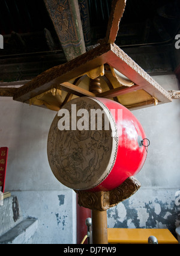
<instances>
[{"instance_id":1,"label":"carved gold cradle bracket supporting the drum from below","mask_svg":"<svg viewBox=\"0 0 180 256\"><path fill-rule=\"evenodd\" d=\"M106 211L114 207L119 202L130 198L140 188L139 181L131 176L127 178L119 187L110 191L86 192L84 190L74 190L78 195L79 206L91 210Z\"/></svg>"}]
</instances>

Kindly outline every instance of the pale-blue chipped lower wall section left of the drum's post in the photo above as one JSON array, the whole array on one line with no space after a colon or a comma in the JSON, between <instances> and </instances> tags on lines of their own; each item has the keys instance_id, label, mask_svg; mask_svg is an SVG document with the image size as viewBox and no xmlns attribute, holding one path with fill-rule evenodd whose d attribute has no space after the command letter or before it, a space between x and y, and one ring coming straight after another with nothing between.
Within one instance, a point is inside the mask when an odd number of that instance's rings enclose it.
<instances>
[{"instance_id":1,"label":"pale-blue chipped lower wall section left of the drum's post","mask_svg":"<svg viewBox=\"0 0 180 256\"><path fill-rule=\"evenodd\" d=\"M38 218L32 243L76 243L76 195L73 190L13 193L22 205L24 216Z\"/></svg>"}]
</instances>

